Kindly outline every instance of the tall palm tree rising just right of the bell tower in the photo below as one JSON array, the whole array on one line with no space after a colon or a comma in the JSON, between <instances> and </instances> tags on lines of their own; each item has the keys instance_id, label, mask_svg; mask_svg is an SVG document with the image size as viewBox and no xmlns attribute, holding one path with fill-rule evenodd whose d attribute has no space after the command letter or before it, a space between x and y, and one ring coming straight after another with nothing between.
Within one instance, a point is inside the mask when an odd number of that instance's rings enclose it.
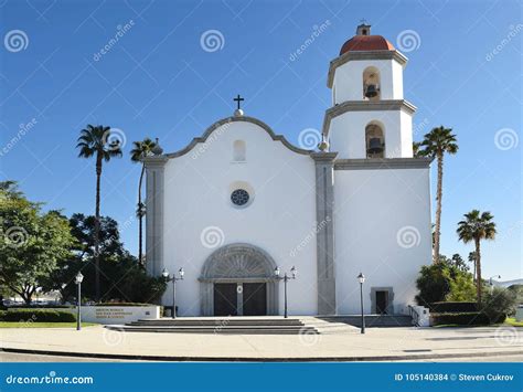
<instances>
[{"instance_id":1,"label":"tall palm tree rising just right of the bell tower","mask_svg":"<svg viewBox=\"0 0 523 392\"><path fill-rule=\"evenodd\" d=\"M441 237L441 198L444 188L444 156L458 152L456 135L451 128L440 126L433 128L420 144L420 149L416 152L419 157L431 157L438 160L438 184L436 190L436 226L434 233L434 262L439 261L439 245Z\"/></svg>"}]
</instances>

